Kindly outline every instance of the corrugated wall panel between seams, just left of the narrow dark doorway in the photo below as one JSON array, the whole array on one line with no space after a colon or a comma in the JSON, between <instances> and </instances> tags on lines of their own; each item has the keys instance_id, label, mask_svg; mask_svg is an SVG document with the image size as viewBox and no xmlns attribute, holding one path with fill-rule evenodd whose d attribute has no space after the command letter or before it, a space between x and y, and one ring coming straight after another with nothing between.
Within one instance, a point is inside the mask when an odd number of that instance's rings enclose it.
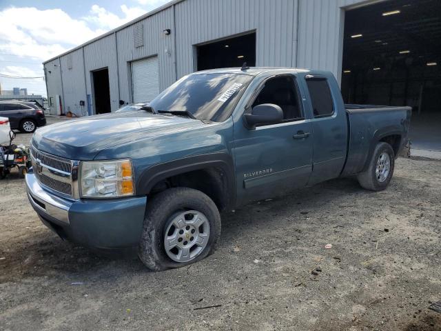
<instances>
[{"instance_id":1,"label":"corrugated wall panel between seams, just left of the narrow dark doorway","mask_svg":"<svg viewBox=\"0 0 441 331\"><path fill-rule=\"evenodd\" d=\"M86 101L83 49L64 55L60 61L65 111L81 115L87 110L87 106L80 106L80 100Z\"/></svg>"}]
</instances>

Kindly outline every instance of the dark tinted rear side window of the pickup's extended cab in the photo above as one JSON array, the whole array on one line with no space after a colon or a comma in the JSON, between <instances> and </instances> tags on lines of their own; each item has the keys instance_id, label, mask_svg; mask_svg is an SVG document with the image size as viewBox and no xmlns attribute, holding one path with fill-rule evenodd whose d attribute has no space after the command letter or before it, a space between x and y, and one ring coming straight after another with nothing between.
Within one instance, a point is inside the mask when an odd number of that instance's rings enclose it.
<instances>
[{"instance_id":1,"label":"dark tinted rear side window of the pickup's extended cab","mask_svg":"<svg viewBox=\"0 0 441 331\"><path fill-rule=\"evenodd\" d=\"M327 79L307 79L314 117L328 117L334 114L334 103Z\"/></svg>"}]
</instances>

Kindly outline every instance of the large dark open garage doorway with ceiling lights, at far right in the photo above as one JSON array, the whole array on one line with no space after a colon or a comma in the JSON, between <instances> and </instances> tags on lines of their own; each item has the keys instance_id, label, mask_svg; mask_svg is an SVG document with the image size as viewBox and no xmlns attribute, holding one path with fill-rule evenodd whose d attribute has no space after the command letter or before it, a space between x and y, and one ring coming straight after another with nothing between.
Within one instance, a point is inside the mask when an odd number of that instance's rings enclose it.
<instances>
[{"instance_id":1,"label":"large dark open garage doorway with ceiling lights, at far right","mask_svg":"<svg viewBox=\"0 0 441 331\"><path fill-rule=\"evenodd\" d=\"M440 13L439 0L382 1L345 13L343 99L411 106L416 156L441 155Z\"/></svg>"}]
</instances>

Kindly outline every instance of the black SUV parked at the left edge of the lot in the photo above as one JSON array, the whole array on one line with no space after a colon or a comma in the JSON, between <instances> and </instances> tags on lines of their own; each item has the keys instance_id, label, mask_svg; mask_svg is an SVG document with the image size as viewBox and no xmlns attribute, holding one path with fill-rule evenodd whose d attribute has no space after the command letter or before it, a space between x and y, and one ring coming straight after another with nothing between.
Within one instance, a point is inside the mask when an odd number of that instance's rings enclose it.
<instances>
[{"instance_id":1,"label":"black SUV parked at the left edge of the lot","mask_svg":"<svg viewBox=\"0 0 441 331\"><path fill-rule=\"evenodd\" d=\"M8 117L11 130L26 133L46 125L43 108L30 101L0 101L0 117Z\"/></svg>"}]
</instances>

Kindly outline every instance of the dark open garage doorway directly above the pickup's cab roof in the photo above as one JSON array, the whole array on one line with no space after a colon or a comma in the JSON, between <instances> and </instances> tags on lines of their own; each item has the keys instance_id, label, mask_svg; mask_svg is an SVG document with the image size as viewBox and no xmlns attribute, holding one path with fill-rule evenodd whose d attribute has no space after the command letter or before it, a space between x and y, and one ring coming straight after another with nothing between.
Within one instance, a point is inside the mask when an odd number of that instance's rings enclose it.
<instances>
[{"instance_id":1,"label":"dark open garage doorway directly above the pickup's cab roof","mask_svg":"<svg viewBox=\"0 0 441 331\"><path fill-rule=\"evenodd\" d=\"M256 32L196 46L197 70L256 66Z\"/></svg>"}]
</instances>

